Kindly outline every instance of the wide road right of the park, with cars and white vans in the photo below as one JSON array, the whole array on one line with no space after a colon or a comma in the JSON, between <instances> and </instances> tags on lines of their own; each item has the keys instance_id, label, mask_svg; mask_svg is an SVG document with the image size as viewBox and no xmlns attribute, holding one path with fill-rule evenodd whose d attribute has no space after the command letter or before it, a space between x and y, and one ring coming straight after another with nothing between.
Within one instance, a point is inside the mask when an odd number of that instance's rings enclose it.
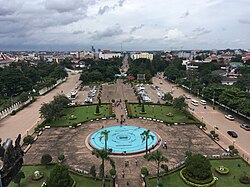
<instances>
[{"instance_id":1,"label":"wide road right of the park, with cars and white vans","mask_svg":"<svg viewBox=\"0 0 250 187\"><path fill-rule=\"evenodd\" d=\"M188 95L188 92L183 90L182 88L176 87L176 85L163 81L161 78L154 77L153 84L159 86L164 93L170 92L173 89L173 96L179 97L183 94ZM162 83L162 84L160 84ZM195 96L191 96L193 99L200 101L199 98ZM239 150L240 155L248 162L250 162L250 131L246 131L240 128L240 122L237 120L229 121L225 118L225 113L219 110L214 110L212 106L204 106L199 104L199 106L191 105L191 99L188 101L188 106L193 108L194 111L190 112L197 117L200 121L203 121L207 125L207 132L209 133L211 130L215 130L217 134L219 134L219 144L224 148L227 148L229 145L233 145ZM218 128L218 130L216 129ZM231 136L227 134L228 130L233 130L238 134L238 138L233 139Z\"/></svg>"}]
</instances>

